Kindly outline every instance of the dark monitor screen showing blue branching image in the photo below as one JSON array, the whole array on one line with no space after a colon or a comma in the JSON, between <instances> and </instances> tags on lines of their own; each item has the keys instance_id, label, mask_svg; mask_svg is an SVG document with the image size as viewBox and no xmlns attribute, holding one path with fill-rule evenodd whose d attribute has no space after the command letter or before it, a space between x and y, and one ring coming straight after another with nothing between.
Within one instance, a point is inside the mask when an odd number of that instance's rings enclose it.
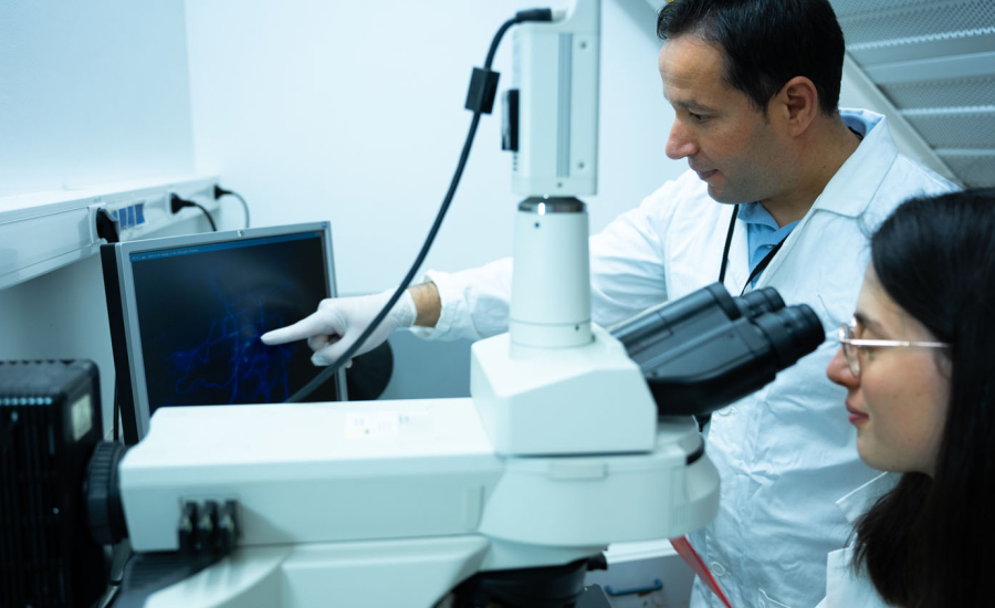
<instances>
[{"instance_id":1,"label":"dark monitor screen showing blue branching image","mask_svg":"<svg viewBox=\"0 0 995 608\"><path fill-rule=\"evenodd\" d=\"M259 337L328 297L322 233L132 255L149 413L285 401L321 371L305 342ZM310 401L335 400L335 379Z\"/></svg>"}]
</instances>

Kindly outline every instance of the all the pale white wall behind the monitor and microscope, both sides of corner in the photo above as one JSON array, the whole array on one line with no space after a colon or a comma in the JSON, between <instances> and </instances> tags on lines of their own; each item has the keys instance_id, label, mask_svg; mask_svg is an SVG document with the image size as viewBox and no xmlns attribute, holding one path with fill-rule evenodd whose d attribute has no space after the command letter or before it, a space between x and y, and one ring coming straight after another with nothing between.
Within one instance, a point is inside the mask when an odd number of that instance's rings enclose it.
<instances>
[{"instance_id":1,"label":"all the pale white wall behind the monitor and microscope, both sides of corner","mask_svg":"<svg viewBox=\"0 0 995 608\"><path fill-rule=\"evenodd\" d=\"M391 285L455 166L470 71L531 4L358 4L0 2L0 197L214 169L250 199L256 226L332 219L342 292ZM652 21L648 6L605 0L595 230L682 168L663 155L671 114ZM510 39L495 61L505 83L509 61ZM510 251L517 199L498 133L485 117L434 268ZM222 226L238 226L229 205ZM0 291L0 359L63 357L97 361L109 424L96 258Z\"/></svg>"}]
</instances>

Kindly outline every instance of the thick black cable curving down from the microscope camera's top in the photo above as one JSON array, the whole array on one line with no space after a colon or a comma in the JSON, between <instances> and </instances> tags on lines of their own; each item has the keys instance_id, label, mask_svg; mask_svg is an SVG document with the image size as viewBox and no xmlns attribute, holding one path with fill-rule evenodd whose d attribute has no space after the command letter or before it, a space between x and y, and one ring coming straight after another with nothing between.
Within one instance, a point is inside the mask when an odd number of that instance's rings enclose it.
<instances>
[{"instance_id":1,"label":"thick black cable curving down from the microscope camera's top","mask_svg":"<svg viewBox=\"0 0 995 608\"><path fill-rule=\"evenodd\" d=\"M553 20L553 11L549 9L535 9L528 11L519 11L514 18L505 21L498 32L494 34L493 40L491 40L491 48L488 50L488 57L484 62L484 71L491 71L491 63L494 60L494 53L498 51L498 44L501 42L501 39L504 36L504 33L510 30L513 25L517 23L523 23L525 21L552 21ZM321 371L317 376L315 376L310 382L304 385L304 387L297 392L291 395L291 397L286 400L287 403L296 403L306 399L312 392L315 391L320 386L325 384L328 378L332 377L338 369L345 365L356 352L363 346L363 344L369 338L369 336L376 331L376 328L387 318L387 315L390 313L390 310L394 308L394 305L397 304L397 301L400 300L401 294L405 293L405 290L408 289L408 285L411 284L411 280L415 279L415 273L418 272L418 269L421 268L422 262L425 262L425 258L428 255L429 249L432 247L432 242L436 240L436 234L439 232L439 228L442 226L442 220L446 218L446 212L449 210L449 206L452 202L452 197L455 195L455 189L460 184L460 178L463 175L463 168L467 165L467 159L470 157L470 147L473 145L473 138L476 135L476 126L480 124L480 115L481 108L478 107L473 111L473 118L470 122L470 130L467 133L467 139L463 143L463 150L460 154L460 160L457 164L455 172L452 176L452 180L449 184L449 190L446 192L446 198L442 200L441 207L439 207L439 212L436 214L436 221L432 222L432 228L429 230L428 237L426 237L425 243L421 245L421 251L418 252L418 256L415 259L415 263L411 264L411 269L405 275L405 279L401 281L400 285L398 285L397 290L390 296L390 300L387 301L387 304L377 313L377 316L374 317L373 323L359 335L359 338L349 346L345 353L341 357L338 357L335 363L329 365L327 368Z\"/></svg>"}]
</instances>

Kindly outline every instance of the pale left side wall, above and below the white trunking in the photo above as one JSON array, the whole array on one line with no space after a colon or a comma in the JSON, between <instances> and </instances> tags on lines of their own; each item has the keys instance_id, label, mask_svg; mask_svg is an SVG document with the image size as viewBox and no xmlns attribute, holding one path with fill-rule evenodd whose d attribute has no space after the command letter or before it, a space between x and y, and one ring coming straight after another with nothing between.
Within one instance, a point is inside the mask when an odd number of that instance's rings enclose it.
<instances>
[{"instance_id":1,"label":"pale left side wall, above and below the white trunking","mask_svg":"<svg viewBox=\"0 0 995 608\"><path fill-rule=\"evenodd\" d=\"M192 171L185 35L182 0L0 0L0 197ZM94 359L109 428L106 311L96 256L0 291L0 359Z\"/></svg>"}]
</instances>

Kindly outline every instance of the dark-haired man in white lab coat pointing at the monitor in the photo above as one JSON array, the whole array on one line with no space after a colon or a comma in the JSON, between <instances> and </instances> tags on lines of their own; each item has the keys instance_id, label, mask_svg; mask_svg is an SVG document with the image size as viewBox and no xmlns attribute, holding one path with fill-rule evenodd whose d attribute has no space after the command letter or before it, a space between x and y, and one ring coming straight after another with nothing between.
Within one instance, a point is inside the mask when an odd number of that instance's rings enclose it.
<instances>
[{"instance_id":1,"label":"dark-haired man in white lab coat pointing at the monitor","mask_svg":"<svg viewBox=\"0 0 995 608\"><path fill-rule=\"evenodd\" d=\"M776 287L835 329L857 298L867 229L904 198L952 185L898 155L883 117L837 109L844 39L828 0L675 0L657 30L677 113L667 154L691 170L591 237L594 321L721 274L733 294ZM511 260L428 279L366 348L412 323L432 338L506 331ZM315 363L331 363L388 295L326 301L263 339L310 338ZM835 501L873 475L856 455L844 391L824 377L836 348L827 342L708 430L721 504L694 544L737 608L818 604L826 556L850 530ZM716 605L695 583L692 606Z\"/></svg>"}]
</instances>

